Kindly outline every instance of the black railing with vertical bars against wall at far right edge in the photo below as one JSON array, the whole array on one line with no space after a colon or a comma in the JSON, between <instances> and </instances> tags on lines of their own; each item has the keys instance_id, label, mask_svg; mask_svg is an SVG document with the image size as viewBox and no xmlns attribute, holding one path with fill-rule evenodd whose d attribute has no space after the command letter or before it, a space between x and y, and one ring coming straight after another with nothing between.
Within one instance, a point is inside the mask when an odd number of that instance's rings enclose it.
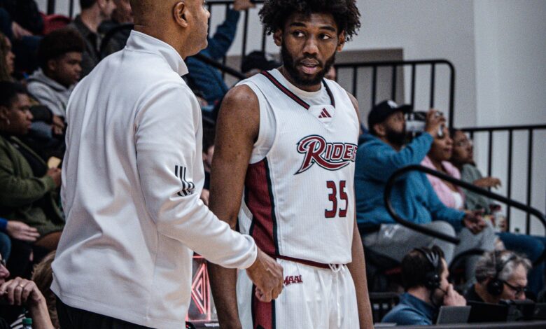
<instances>
[{"instance_id":1,"label":"black railing with vertical bars against wall at far right edge","mask_svg":"<svg viewBox=\"0 0 546 329\"><path fill-rule=\"evenodd\" d=\"M514 167L514 132L527 132L527 163L526 163L526 206L531 207L532 188L533 188L533 141L535 132L538 130L546 131L546 125L521 125L521 126L502 126L502 127L468 127L461 128L463 132L470 134L470 139L475 139L477 134L487 134L487 176L491 176L493 171L493 134L507 133L507 175L506 175L506 195L512 197L512 169ZM506 221L510 228L510 208L507 204ZM527 235L531 233L531 214L526 215Z\"/></svg>"}]
</instances>

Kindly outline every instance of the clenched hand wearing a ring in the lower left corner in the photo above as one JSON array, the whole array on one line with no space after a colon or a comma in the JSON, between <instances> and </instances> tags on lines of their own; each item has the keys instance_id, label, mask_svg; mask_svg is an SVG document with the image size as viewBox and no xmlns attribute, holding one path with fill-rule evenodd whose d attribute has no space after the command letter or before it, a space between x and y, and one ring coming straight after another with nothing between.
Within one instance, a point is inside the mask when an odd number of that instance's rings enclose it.
<instances>
[{"instance_id":1,"label":"clenched hand wearing a ring in the lower left corner","mask_svg":"<svg viewBox=\"0 0 546 329\"><path fill-rule=\"evenodd\" d=\"M36 287L36 283L20 277L4 282L0 286L0 296L8 304L16 306L36 307L42 302L45 303L45 298Z\"/></svg>"}]
</instances>

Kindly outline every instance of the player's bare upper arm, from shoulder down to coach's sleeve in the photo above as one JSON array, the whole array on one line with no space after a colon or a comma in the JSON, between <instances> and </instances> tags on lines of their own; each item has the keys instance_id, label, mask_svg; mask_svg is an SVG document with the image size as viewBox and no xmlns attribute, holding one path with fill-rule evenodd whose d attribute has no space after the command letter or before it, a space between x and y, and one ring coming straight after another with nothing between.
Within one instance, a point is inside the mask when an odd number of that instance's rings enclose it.
<instances>
[{"instance_id":1,"label":"player's bare upper arm, from shoulder down to coach's sleeve","mask_svg":"<svg viewBox=\"0 0 546 329\"><path fill-rule=\"evenodd\" d=\"M209 206L232 227L241 206L246 169L259 130L258 97L246 85L230 90L216 124Z\"/></svg>"}]
</instances>

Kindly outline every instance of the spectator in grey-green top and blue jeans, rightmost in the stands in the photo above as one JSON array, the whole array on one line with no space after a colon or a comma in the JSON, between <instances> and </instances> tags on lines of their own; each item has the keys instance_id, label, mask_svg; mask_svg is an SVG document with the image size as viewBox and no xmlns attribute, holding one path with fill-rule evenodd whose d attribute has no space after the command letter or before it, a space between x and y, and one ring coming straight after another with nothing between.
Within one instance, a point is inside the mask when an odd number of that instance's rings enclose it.
<instances>
[{"instance_id":1,"label":"spectator in grey-green top and blue jeans, rightmost in the stands","mask_svg":"<svg viewBox=\"0 0 546 329\"><path fill-rule=\"evenodd\" d=\"M479 169L474 165L473 159L473 146L472 141L461 130L451 130L451 138L454 140L453 154L451 155L451 161L458 168L454 168L454 177L458 178L458 170L462 170L461 179L467 183L473 183L481 188L494 188L500 186L500 179L493 177L482 176ZM449 154L446 155L446 157ZM445 158L445 157L444 157ZM453 175L452 175L453 176ZM440 182L440 184L442 184ZM482 209L489 214L489 218L500 228L500 232L497 233L500 240L503 241L505 247L511 251L522 253L527 258L535 262L540 258L542 253L546 252L546 238L530 235L517 235L507 231L505 223L495 223L495 218L503 219L503 216L495 216L500 211L500 207L493 204L488 197L473 193L469 190L463 190L465 195L465 207L466 209ZM504 222L504 221L503 221ZM544 274L546 264L540 262L535 265L531 271L529 271L529 290L532 293L538 294L542 288L544 288Z\"/></svg>"}]
</instances>

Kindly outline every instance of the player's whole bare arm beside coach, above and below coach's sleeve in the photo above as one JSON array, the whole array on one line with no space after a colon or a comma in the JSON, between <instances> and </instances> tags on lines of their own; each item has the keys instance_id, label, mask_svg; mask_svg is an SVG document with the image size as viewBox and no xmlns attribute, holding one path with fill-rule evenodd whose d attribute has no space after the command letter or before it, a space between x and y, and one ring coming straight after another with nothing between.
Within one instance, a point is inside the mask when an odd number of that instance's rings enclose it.
<instances>
[{"instance_id":1,"label":"player's whole bare arm beside coach, above and below coach's sleeve","mask_svg":"<svg viewBox=\"0 0 546 329\"><path fill-rule=\"evenodd\" d=\"M230 90L216 125L209 207L232 229L237 225L246 169L259 130L258 97L246 85ZM209 263L209 274L221 328L241 328L235 289L237 270Z\"/></svg>"}]
</instances>

